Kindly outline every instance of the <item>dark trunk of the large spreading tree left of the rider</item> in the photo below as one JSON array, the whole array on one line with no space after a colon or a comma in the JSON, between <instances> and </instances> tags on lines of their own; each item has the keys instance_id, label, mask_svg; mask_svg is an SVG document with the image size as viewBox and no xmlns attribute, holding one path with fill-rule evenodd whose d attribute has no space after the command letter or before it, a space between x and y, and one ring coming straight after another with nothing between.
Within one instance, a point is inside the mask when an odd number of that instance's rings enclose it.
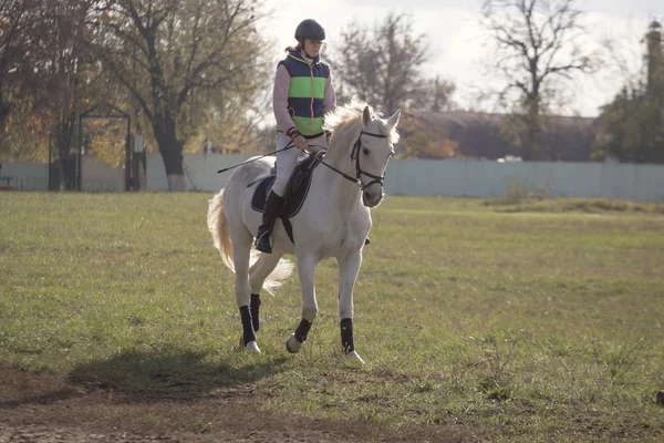
<instances>
[{"instance_id":1,"label":"dark trunk of the large spreading tree left of the rider","mask_svg":"<svg viewBox=\"0 0 664 443\"><path fill-rule=\"evenodd\" d=\"M175 135L175 119L170 116L156 116L153 124L155 138L159 145L159 153L164 161L168 190L184 192L185 173L183 167L184 143Z\"/></svg>"}]
</instances>

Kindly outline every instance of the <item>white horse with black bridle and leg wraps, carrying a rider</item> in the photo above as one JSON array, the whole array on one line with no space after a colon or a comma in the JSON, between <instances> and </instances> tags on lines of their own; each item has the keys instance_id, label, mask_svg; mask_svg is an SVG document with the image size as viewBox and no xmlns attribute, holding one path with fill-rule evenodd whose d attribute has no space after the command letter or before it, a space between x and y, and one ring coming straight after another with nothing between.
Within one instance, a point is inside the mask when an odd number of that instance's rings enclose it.
<instances>
[{"instance_id":1,"label":"white horse with black bridle and leg wraps, carrying a rider","mask_svg":"<svg viewBox=\"0 0 664 443\"><path fill-rule=\"evenodd\" d=\"M312 172L309 195L290 219L293 241L280 220L273 229L272 254L252 249L261 214L251 207L256 182L267 176L274 159L256 158L238 167L210 202L208 229L226 266L236 272L236 297L242 320L242 342L258 353L260 290L281 285L298 258L302 289L302 320L287 340L289 352L302 348L318 313L314 268L325 258L339 262L339 318L342 349L350 360L363 362L353 343L353 286L362 264L362 248L372 226L369 208L383 199L387 162L398 141L401 110L390 119L374 114L365 103L340 106L325 116L332 131L328 153ZM295 147L293 147L295 148ZM232 257L232 261L231 261Z\"/></svg>"}]
</instances>

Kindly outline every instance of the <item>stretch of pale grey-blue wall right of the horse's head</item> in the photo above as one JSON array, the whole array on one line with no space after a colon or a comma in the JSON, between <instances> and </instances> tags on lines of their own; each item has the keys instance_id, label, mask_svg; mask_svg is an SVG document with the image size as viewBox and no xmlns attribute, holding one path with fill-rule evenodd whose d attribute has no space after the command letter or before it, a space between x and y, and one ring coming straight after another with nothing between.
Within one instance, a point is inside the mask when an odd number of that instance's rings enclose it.
<instances>
[{"instance_id":1,"label":"stretch of pale grey-blue wall right of the horse's head","mask_svg":"<svg viewBox=\"0 0 664 443\"><path fill-rule=\"evenodd\" d=\"M504 196L510 186L551 197L664 200L664 166L490 161L390 162L385 192L403 195Z\"/></svg>"}]
</instances>

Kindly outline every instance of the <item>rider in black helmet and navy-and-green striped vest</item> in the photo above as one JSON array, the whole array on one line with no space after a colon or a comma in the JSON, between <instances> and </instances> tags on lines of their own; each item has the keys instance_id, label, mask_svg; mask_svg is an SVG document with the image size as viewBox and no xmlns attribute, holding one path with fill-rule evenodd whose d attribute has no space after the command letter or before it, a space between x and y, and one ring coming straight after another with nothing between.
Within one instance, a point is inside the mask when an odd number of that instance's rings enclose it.
<instances>
[{"instance_id":1,"label":"rider in black helmet and navy-and-green striped vest","mask_svg":"<svg viewBox=\"0 0 664 443\"><path fill-rule=\"evenodd\" d=\"M315 20L304 20L295 29L295 48L287 48L274 75L273 109L277 119L277 177L268 194L256 248L271 254L270 237L283 206L286 185L301 151L328 147L323 116L336 106L330 66L320 52L325 30ZM294 145L286 151L289 144Z\"/></svg>"}]
</instances>

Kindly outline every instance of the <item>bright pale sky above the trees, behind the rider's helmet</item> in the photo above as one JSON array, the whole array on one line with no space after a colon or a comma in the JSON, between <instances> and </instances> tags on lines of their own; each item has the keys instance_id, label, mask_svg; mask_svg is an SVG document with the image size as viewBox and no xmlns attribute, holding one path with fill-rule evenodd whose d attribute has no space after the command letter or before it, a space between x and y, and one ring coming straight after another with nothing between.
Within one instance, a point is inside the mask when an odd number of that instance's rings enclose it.
<instances>
[{"instance_id":1,"label":"bright pale sky above the trees, behind the rider's helmet","mask_svg":"<svg viewBox=\"0 0 664 443\"><path fill-rule=\"evenodd\" d=\"M335 35L353 20L373 28L391 12L408 13L414 30L426 35L426 49L432 54L423 68L457 85L456 103L461 109L500 111L477 102L477 92L487 85L500 87L487 75L490 53L487 31L479 25L481 0L268 0L266 4L272 13L262 21L259 32L269 39L267 49L273 47L276 60L286 47L295 43L293 32L301 20L320 22L328 44L333 44ZM574 4L585 12L589 37L584 45L596 49L611 39L616 50L598 74L566 86L568 105L560 113L595 116L641 66L645 49L640 42L653 19L664 22L664 1L577 0Z\"/></svg>"}]
</instances>

